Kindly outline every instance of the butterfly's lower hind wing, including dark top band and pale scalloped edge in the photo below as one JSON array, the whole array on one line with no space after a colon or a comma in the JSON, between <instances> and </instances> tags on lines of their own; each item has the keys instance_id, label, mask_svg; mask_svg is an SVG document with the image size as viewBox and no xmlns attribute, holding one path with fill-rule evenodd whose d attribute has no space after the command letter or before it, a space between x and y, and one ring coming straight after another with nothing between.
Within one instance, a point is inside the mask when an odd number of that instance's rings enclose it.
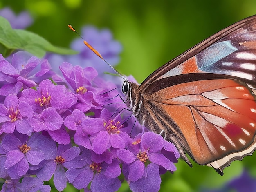
<instances>
[{"instance_id":1,"label":"butterfly's lower hind wing, including dark top band and pale scalloped edge","mask_svg":"<svg viewBox=\"0 0 256 192\"><path fill-rule=\"evenodd\" d=\"M256 148L256 96L232 76L192 73L162 78L148 86L143 98L140 122L157 133L164 130L184 155L183 149L220 174Z\"/></svg>"}]
</instances>

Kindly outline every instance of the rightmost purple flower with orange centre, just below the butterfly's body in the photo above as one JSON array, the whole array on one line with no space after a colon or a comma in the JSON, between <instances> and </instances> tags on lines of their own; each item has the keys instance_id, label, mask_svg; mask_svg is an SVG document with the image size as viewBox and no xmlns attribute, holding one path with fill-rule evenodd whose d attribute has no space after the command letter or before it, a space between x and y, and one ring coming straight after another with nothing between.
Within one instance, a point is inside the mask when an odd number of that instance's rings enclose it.
<instances>
[{"instance_id":1,"label":"rightmost purple flower with orange centre, just below the butterfly's body","mask_svg":"<svg viewBox=\"0 0 256 192\"><path fill-rule=\"evenodd\" d=\"M139 179L147 177L145 163L150 161L156 165L164 167L166 170L175 171L176 167L172 161L161 154L164 146L164 139L162 136L153 132L146 132L138 138L135 138L133 145L128 149L121 149L117 151L117 157L125 164L123 166L124 175L128 178L128 183L135 182ZM171 145L170 147L175 153L177 149ZM170 150L167 146L166 149ZM158 180L160 174L155 174L155 180Z\"/></svg>"}]
</instances>

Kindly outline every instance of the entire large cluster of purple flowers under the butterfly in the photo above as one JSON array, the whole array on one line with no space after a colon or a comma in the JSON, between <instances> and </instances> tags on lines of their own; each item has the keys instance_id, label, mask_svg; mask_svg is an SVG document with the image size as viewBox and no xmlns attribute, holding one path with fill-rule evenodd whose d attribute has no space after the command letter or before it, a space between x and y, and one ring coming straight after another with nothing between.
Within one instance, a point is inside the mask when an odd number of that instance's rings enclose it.
<instances>
[{"instance_id":1,"label":"entire large cluster of purple flowers under the butterfly","mask_svg":"<svg viewBox=\"0 0 256 192\"><path fill-rule=\"evenodd\" d=\"M27 185L49 191L43 181L52 177L59 191L67 182L116 191L121 173L132 191L158 191L160 174L176 170L175 146L153 132L136 135L141 127L131 114L117 111L125 105L115 97L115 85L97 77L93 67L63 63L66 83L58 85L47 79L53 73L47 60L25 61L25 52L14 54L11 63L0 58L2 191Z\"/></svg>"}]
</instances>

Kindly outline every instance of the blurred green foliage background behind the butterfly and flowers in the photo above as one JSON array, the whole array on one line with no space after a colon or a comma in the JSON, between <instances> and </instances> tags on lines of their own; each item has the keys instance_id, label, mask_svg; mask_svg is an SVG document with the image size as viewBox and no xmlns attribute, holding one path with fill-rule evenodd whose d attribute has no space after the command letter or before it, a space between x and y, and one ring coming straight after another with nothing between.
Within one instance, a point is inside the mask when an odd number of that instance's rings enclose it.
<instances>
[{"instance_id":1,"label":"blurred green foliage background behind the butterfly and flowers","mask_svg":"<svg viewBox=\"0 0 256 192\"><path fill-rule=\"evenodd\" d=\"M53 45L69 47L84 25L108 28L121 42L121 62L116 67L132 74L141 83L150 73L213 33L256 14L255 0L1 0L0 8L16 13L27 10L34 18L29 31L43 36ZM256 155L234 161L219 176L210 167L193 168L180 160L174 174L162 177L161 191L198 191L218 188L241 174L243 167L256 176ZM65 191L72 191L67 188ZM76 190L74 190L76 191ZM119 191L129 191L128 185Z\"/></svg>"}]
</instances>

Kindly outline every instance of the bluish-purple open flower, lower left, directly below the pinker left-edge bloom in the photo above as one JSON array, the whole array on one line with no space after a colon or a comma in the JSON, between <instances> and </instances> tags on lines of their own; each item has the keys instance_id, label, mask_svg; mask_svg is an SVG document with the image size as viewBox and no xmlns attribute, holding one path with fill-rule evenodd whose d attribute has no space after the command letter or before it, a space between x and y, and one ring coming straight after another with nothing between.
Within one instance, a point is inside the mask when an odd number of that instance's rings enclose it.
<instances>
[{"instance_id":1,"label":"bluish-purple open flower, lower left, directly below the pinker left-edge bloom","mask_svg":"<svg viewBox=\"0 0 256 192\"><path fill-rule=\"evenodd\" d=\"M12 179L24 176L29 164L38 165L45 156L43 145L47 142L44 136L34 133L30 138L23 134L6 134L2 139L2 147L7 151L4 167Z\"/></svg>"}]
</instances>

